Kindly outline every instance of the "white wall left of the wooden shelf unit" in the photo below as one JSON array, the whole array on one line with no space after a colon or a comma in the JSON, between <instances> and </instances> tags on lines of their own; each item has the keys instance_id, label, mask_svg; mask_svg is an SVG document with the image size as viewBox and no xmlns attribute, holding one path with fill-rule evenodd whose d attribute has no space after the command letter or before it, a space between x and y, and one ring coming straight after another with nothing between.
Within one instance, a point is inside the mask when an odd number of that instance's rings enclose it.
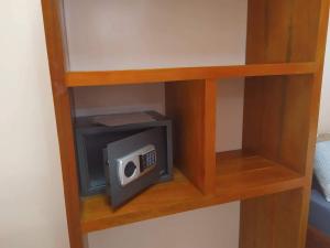
<instances>
[{"instance_id":1,"label":"white wall left of the wooden shelf unit","mask_svg":"<svg viewBox=\"0 0 330 248\"><path fill-rule=\"evenodd\" d=\"M0 247L67 248L41 1L0 17Z\"/></svg>"}]
</instances>

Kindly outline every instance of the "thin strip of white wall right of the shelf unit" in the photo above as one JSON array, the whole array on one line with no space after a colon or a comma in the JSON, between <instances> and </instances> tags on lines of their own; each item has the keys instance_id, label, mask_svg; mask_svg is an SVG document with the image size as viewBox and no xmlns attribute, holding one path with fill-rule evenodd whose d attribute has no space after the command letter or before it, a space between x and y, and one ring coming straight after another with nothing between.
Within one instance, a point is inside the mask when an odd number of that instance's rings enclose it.
<instances>
[{"instance_id":1,"label":"thin strip of white wall right of the shelf unit","mask_svg":"<svg viewBox=\"0 0 330 248\"><path fill-rule=\"evenodd\" d=\"M319 133L330 133L330 25L324 63L324 75L320 106Z\"/></svg>"}]
</instances>

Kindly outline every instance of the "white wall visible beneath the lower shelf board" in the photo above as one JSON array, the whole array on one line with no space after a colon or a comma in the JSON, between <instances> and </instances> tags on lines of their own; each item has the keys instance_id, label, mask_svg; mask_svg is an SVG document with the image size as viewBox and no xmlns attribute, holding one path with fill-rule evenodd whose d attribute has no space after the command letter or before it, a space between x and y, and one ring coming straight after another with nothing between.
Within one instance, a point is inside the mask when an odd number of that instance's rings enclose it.
<instances>
[{"instance_id":1,"label":"white wall visible beneath the lower shelf board","mask_svg":"<svg viewBox=\"0 0 330 248\"><path fill-rule=\"evenodd\" d=\"M90 248L237 248L239 208L231 203L98 231Z\"/></svg>"}]
</instances>

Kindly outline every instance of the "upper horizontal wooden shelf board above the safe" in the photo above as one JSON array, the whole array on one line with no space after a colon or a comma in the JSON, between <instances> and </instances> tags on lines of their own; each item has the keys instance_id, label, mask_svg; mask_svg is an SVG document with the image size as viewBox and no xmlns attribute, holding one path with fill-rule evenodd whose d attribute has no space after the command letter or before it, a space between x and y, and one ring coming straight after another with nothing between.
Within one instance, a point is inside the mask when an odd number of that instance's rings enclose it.
<instances>
[{"instance_id":1,"label":"upper horizontal wooden shelf board above the safe","mask_svg":"<svg viewBox=\"0 0 330 248\"><path fill-rule=\"evenodd\" d=\"M245 76L314 74L316 63L253 64L211 67L183 67L136 71L67 72L67 87L145 84Z\"/></svg>"}]
</instances>

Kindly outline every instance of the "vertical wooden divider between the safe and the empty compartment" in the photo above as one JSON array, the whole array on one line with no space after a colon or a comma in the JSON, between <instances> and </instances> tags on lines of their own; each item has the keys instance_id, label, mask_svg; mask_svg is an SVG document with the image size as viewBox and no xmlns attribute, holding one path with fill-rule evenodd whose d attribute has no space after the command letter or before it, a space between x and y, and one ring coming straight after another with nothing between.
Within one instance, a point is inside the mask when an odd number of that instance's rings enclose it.
<instances>
[{"instance_id":1,"label":"vertical wooden divider between the safe and the empty compartment","mask_svg":"<svg viewBox=\"0 0 330 248\"><path fill-rule=\"evenodd\" d=\"M216 191L216 80L167 83L175 165L205 194Z\"/></svg>"}]
</instances>

